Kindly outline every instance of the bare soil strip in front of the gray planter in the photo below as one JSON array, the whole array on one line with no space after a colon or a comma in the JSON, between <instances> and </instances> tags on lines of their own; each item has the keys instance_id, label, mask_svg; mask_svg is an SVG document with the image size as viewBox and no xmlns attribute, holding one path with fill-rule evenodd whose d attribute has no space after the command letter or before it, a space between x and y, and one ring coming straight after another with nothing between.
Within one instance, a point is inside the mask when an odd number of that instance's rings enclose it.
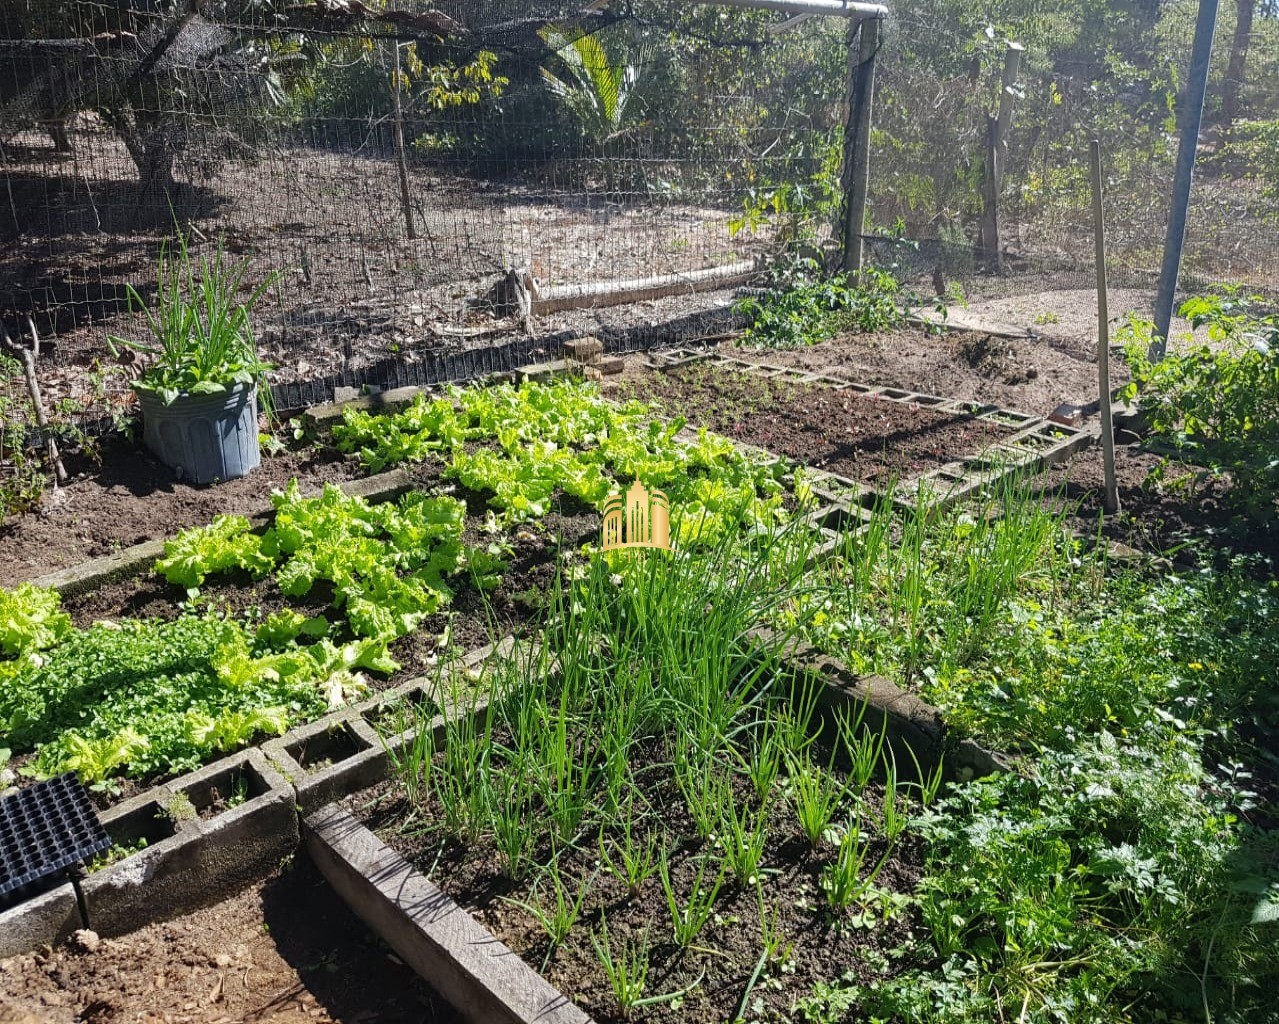
<instances>
[{"instance_id":1,"label":"bare soil strip in front of the gray planter","mask_svg":"<svg viewBox=\"0 0 1279 1024\"><path fill-rule=\"evenodd\" d=\"M73 479L47 490L40 505L0 524L0 587L110 555L183 527L202 525L219 513L251 514L270 508L272 488L297 477L303 493L325 483L367 476L358 462L307 447L262 454L247 477L210 487L175 479L141 445L104 442L98 462L68 459Z\"/></svg>"}]
</instances>

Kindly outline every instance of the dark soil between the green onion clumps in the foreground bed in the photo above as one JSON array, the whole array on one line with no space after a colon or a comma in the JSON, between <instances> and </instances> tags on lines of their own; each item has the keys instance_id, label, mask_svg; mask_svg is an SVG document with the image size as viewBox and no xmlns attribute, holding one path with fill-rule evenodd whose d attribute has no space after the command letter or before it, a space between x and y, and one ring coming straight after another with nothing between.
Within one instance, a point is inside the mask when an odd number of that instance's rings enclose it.
<instances>
[{"instance_id":1,"label":"dark soil between the green onion clumps in the foreground bed","mask_svg":"<svg viewBox=\"0 0 1279 1024\"><path fill-rule=\"evenodd\" d=\"M637 777L646 780L645 795L638 800L650 808L637 822L637 832L642 830L641 839L650 831L656 832L659 849L663 841L666 842L671 854L671 886L683 901L693 888L698 864L707 857L718 858L715 844L697 837L669 763L646 763L634 770ZM755 805L746 780L738 777L735 789L739 807L748 802ZM871 784L865 798L868 807L876 808L883 791ZM572 849L559 850L560 877L569 897L577 899L583 880L588 891L577 924L547 961L550 942L545 931L528 910L512 900L544 909L554 906L554 901L538 903L540 897L546 899L545 892L535 892L527 881L513 883L504 877L491 840L459 844L437 834L431 823L440 819L440 808L427 805L414 813L394 784L356 794L345 804L593 1019L623 1019L591 942L592 933L599 940L605 920L615 955L623 943L634 946L647 937L650 973L645 996L689 989L674 1005L659 1002L640 1007L627 1020L674 1024L737 1018L764 949L760 896L755 886L737 886L725 877L714 915L692 945L680 950L671 937L670 910L660 874L655 872L638 895L631 897L625 886L601 867L600 834L592 828ZM866 821L874 814L872 811ZM770 836L761 871L765 913L770 920L775 915L778 933L784 937L781 946L789 955L779 955L762 969L746 1006L751 1019L780 1020L788 1019L794 1000L811 995L819 982L834 982L849 974L868 979L870 964L886 963L883 952L900 945L913 922L912 912L884 920L876 910L874 927L870 927L870 918L858 919L856 912L833 917L826 909L820 878L824 867L835 857L834 848L824 841L813 849L776 790L769 821ZM604 830L605 849L611 849L610 842L619 834L619 826ZM881 837L871 841L862 877L877 863L884 849ZM549 863L550 858L549 846L537 850L538 864ZM907 840L884 865L877 885L891 892L909 894L921 867L922 851ZM712 881L714 867L707 869L705 885ZM544 888L546 885L544 882Z\"/></svg>"}]
</instances>

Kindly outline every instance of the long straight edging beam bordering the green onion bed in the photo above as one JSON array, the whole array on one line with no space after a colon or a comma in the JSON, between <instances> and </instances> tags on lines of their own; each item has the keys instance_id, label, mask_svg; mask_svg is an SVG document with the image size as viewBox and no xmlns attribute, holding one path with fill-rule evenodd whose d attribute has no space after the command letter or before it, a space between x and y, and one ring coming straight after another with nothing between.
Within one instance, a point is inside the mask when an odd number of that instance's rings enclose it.
<instances>
[{"instance_id":1,"label":"long straight edging beam bordering the green onion bed","mask_svg":"<svg viewBox=\"0 0 1279 1024\"><path fill-rule=\"evenodd\" d=\"M347 905L467 1020L591 1024L578 1006L352 814L330 804L302 839Z\"/></svg>"}]
</instances>

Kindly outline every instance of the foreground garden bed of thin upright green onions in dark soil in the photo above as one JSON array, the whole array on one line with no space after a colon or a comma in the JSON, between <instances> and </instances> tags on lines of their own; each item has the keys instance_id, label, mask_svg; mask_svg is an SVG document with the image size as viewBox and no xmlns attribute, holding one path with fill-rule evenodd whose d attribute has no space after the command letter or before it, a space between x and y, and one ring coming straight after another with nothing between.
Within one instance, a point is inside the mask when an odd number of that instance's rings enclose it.
<instances>
[{"instance_id":1,"label":"foreground garden bed of thin upright green onions in dark soil","mask_svg":"<svg viewBox=\"0 0 1279 1024\"><path fill-rule=\"evenodd\" d=\"M886 963L940 770L752 633L775 597L735 582L785 593L799 554L597 559L348 805L596 1020L774 1019Z\"/></svg>"}]
</instances>

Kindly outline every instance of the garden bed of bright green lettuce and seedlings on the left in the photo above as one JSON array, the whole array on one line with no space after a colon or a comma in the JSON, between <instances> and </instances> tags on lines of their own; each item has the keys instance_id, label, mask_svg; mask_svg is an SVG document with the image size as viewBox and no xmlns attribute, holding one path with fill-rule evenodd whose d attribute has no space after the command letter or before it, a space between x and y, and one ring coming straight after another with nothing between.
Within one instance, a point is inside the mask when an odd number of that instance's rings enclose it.
<instances>
[{"instance_id":1,"label":"garden bed of bright green lettuce and seedlings on the left","mask_svg":"<svg viewBox=\"0 0 1279 1024\"><path fill-rule=\"evenodd\" d=\"M349 414L343 447L375 469L414 462L428 490L371 505L285 488L265 533L239 515L184 531L156 575L78 596L72 615L37 589L3 594L0 741L24 772L77 771L111 798L120 776L189 770L377 676L417 674L492 620L518 625L545 606L556 557L595 539L595 510L624 479L680 501L682 545L792 518L785 465L678 432L577 385Z\"/></svg>"}]
</instances>

